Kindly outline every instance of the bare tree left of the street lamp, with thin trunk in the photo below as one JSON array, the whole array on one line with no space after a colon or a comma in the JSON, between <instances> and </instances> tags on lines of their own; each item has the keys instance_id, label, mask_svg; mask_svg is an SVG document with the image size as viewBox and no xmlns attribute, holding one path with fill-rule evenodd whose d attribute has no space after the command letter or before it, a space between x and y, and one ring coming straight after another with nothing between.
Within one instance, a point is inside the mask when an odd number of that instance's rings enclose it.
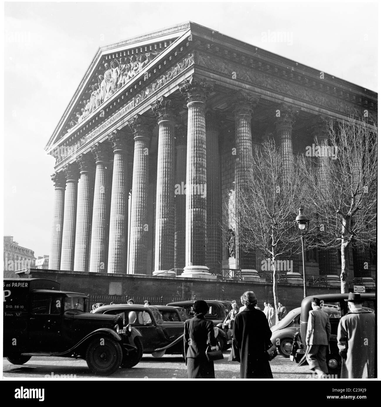
<instances>
[{"instance_id":1,"label":"bare tree left of the street lamp, with thin trunk","mask_svg":"<svg viewBox=\"0 0 381 407\"><path fill-rule=\"evenodd\" d=\"M282 168L282 155L274 140L255 147L253 171L247 187L236 197L235 212L229 213L240 225L240 247L259 249L270 259L273 271L273 296L278 322L277 260L300 251L294 219L304 195L304 174L299 159L291 158L291 169ZM304 204L308 211L308 202Z\"/></svg>"}]
</instances>

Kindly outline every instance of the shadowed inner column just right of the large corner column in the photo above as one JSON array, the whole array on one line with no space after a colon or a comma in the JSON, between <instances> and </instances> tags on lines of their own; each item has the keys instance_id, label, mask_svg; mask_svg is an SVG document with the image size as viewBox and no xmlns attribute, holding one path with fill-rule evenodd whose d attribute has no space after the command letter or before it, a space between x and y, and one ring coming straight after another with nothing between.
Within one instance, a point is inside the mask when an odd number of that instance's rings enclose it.
<instances>
[{"instance_id":1,"label":"shadowed inner column just right of the large corner column","mask_svg":"<svg viewBox=\"0 0 381 407\"><path fill-rule=\"evenodd\" d=\"M206 184L207 197L207 251L206 264L211 269L221 268L221 182L218 137L221 117L207 112L206 123Z\"/></svg>"}]
</instances>

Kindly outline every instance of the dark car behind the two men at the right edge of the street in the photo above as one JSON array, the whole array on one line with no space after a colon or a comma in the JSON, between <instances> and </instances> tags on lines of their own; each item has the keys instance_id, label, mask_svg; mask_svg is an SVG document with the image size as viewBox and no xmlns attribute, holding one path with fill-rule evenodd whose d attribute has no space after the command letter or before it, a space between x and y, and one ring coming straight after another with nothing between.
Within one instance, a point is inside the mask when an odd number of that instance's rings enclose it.
<instances>
[{"instance_id":1,"label":"dark car behind the two men at the right edge of the street","mask_svg":"<svg viewBox=\"0 0 381 407\"><path fill-rule=\"evenodd\" d=\"M363 307L370 310L375 310L376 304L376 295L374 293L361 293L361 299L364 300ZM293 340L293 346L291 348L290 359L302 365L306 361L305 350L306 350L306 333L307 333L307 323L309 311L312 310L311 300L314 297L318 297L322 301L322 305L333 311L333 314L330 315L330 324L331 324L331 335L328 344L327 352L327 366L328 373L337 375L340 377L341 372L341 357L339 355L339 349L337 347L337 328L339 326L339 318L336 315L335 311L340 312L340 317L348 313L348 304L346 299L348 299L348 294L323 294L323 295L311 295L304 298L301 304L300 311L300 332L295 334Z\"/></svg>"}]
</instances>

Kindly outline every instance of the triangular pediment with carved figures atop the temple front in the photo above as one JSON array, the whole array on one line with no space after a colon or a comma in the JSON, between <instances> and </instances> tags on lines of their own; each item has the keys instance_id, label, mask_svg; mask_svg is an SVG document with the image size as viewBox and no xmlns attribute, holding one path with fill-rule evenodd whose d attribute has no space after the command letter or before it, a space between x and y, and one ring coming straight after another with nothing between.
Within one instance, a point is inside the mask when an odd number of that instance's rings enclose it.
<instances>
[{"instance_id":1,"label":"triangular pediment with carved figures atop the temple front","mask_svg":"<svg viewBox=\"0 0 381 407\"><path fill-rule=\"evenodd\" d=\"M113 94L131 83L147 66L152 66L189 29L190 22L185 22L99 47L45 150L49 151L105 105Z\"/></svg>"}]
</instances>

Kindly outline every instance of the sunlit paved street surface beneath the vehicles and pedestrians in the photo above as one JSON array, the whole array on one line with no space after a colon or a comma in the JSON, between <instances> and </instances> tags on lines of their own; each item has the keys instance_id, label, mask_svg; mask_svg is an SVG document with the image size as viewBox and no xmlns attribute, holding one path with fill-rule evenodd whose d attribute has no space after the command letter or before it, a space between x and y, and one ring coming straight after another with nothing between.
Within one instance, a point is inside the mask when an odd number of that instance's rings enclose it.
<instances>
[{"instance_id":1,"label":"sunlit paved street surface beneath the vehicles and pedestrians","mask_svg":"<svg viewBox=\"0 0 381 407\"><path fill-rule=\"evenodd\" d=\"M237 362L227 360L229 353L229 351L224 352L225 359L214 362L214 370L218 379L239 379L240 377L240 365ZM275 379L306 379L307 375L311 374L308 366L297 367L295 363L280 355L273 359L270 364ZM86 361L81 359L32 357L24 365L12 365L7 359L3 359L4 377L44 378L54 375L68 375L69 377L73 375L76 379L97 377L88 370ZM61 377L67 378L68 376ZM145 355L134 368L119 369L108 376L108 379L184 379L185 376L186 368L181 357L167 355L160 359L154 359L150 355Z\"/></svg>"}]
</instances>

